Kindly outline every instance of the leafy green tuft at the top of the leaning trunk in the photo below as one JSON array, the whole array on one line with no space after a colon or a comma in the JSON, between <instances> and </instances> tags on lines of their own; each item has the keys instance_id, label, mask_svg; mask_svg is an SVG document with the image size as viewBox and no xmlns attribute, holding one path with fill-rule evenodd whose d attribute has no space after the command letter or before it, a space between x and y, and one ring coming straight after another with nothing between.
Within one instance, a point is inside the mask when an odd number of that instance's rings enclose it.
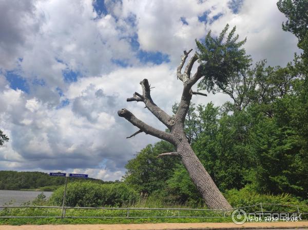
<instances>
[{"instance_id":1,"label":"leafy green tuft at the top of the leaning trunk","mask_svg":"<svg viewBox=\"0 0 308 230\"><path fill-rule=\"evenodd\" d=\"M229 25L226 25L218 37L211 36L211 31L205 37L204 43L196 40L199 50L198 58L205 76L198 83L200 90L213 93L225 90L232 78L244 73L251 66L252 59L242 48L246 39L238 41L234 27L225 38Z\"/></svg>"}]
</instances>

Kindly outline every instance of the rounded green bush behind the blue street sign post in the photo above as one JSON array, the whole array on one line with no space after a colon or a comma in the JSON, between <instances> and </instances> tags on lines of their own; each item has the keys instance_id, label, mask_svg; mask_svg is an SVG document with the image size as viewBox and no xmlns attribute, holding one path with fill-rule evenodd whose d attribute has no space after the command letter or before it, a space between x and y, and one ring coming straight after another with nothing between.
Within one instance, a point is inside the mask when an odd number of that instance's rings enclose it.
<instances>
[{"instance_id":1,"label":"rounded green bush behind the blue street sign post","mask_svg":"<svg viewBox=\"0 0 308 230\"><path fill-rule=\"evenodd\" d=\"M62 205L64 186L49 198L50 205ZM99 207L125 206L136 202L138 193L124 183L98 184L93 182L73 182L67 185L66 206Z\"/></svg>"}]
</instances>

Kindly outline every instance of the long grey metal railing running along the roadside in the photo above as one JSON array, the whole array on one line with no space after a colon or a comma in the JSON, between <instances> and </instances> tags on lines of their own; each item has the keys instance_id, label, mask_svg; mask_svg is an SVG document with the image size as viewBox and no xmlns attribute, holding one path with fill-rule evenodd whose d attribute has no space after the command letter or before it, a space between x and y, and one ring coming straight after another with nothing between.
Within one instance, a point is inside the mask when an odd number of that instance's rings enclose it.
<instances>
[{"instance_id":1,"label":"long grey metal railing running along the roadside","mask_svg":"<svg viewBox=\"0 0 308 230\"><path fill-rule=\"evenodd\" d=\"M260 206L260 210L255 211L255 213L265 213L264 206L290 206L295 207L297 212L290 213L302 213L308 214L305 212L300 212L300 208L306 207L308 210L308 205L296 205L296 204L270 204L270 203L258 203L254 205L248 205L243 207L232 208L229 210L211 210L211 209L197 209L197 208L147 208L147 207L69 207L69 206L28 206L28 205L4 205L0 206L0 208L53 208L62 210L61 216L0 216L0 218L101 218L101 219L113 219L113 218L127 218L127 219L141 219L141 218L229 218L231 211L236 209L246 209L251 207ZM125 216L66 216L67 210L122 210L126 211ZM4 210L0 210L0 213ZM133 216L131 215L132 211L170 211L172 215L169 216ZM186 211L194 211L194 212L208 212L207 214L215 214L214 216L185 216L183 212ZM273 211L272 211L273 212ZM60 213L60 212L59 212Z\"/></svg>"}]
</instances>

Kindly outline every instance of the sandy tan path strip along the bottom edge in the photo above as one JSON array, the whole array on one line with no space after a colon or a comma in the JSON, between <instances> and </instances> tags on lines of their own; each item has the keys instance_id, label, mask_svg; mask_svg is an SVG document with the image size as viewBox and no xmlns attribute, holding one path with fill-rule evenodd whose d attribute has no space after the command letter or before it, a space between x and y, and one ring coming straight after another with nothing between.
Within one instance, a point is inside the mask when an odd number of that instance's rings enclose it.
<instances>
[{"instance_id":1,"label":"sandy tan path strip along the bottom edge","mask_svg":"<svg viewBox=\"0 0 308 230\"><path fill-rule=\"evenodd\" d=\"M0 225L0 230L149 230L149 229L204 229L204 228L308 228L308 221L234 223L156 223L156 224L65 224L65 225Z\"/></svg>"}]
</instances>

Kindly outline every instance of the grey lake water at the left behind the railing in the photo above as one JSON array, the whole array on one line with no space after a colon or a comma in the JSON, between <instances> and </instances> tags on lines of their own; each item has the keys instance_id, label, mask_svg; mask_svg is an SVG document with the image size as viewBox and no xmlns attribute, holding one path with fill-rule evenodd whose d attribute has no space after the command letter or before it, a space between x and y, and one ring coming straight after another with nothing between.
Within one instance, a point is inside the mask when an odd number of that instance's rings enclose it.
<instances>
[{"instance_id":1,"label":"grey lake water at the left behind the railing","mask_svg":"<svg viewBox=\"0 0 308 230\"><path fill-rule=\"evenodd\" d=\"M26 201L34 200L38 194L44 193L46 198L49 198L52 192L41 191L15 191L15 190L0 190L0 205L13 201L8 205L21 205Z\"/></svg>"}]
</instances>

